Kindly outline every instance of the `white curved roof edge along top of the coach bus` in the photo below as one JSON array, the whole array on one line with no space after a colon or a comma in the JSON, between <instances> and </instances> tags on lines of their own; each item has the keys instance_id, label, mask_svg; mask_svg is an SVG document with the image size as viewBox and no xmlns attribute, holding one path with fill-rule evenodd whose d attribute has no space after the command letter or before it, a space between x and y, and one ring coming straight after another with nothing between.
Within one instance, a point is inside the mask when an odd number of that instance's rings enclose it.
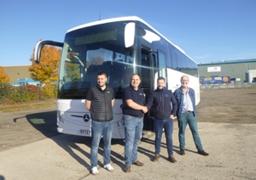
<instances>
[{"instance_id":1,"label":"white curved roof edge along top of the coach bus","mask_svg":"<svg viewBox=\"0 0 256 180\"><path fill-rule=\"evenodd\" d=\"M102 24L106 24L106 23L118 22L118 21L125 21L125 20L139 21L139 22L142 22L142 23L145 24L145 25L148 25L148 23L147 23L146 21L142 20L141 18L139 18L139 17L137 17L137 16L125 16L125 17L111 18L111 19L106 19L106 20L97 20L97 21L93 21L93 22L90 22L90 23L86 23L86 24L84 24L84 25L78 25L78 26L76 26L76 27L73 27L73 28L69 29L69 30L67 31L67 33L70 32L70 31L79 30L79 29L84 28L84 27L89 27L89 26L92 26L92 25L102 25ZM170 42L175 48L177 48L179 51L181 51L181 52L184 53L187 57L189 57L188 54L186 54L186 53L183 51L182 48L179 48L176 44L172 43L170 40L168 40L166 37L164 37L159 31L156 31L156 30L154 29L154 27L152 27L151 25L148 25L148 27L150 27L152 30L154 30L155 32L157 32L157 33L160 35L160 37L163 37L164 39L166 39L167 42ZM189 59L191 59L191 58L189 57ZM192 59L192 60L195 62L194 59Z\"/></svg>"}]
</instances>

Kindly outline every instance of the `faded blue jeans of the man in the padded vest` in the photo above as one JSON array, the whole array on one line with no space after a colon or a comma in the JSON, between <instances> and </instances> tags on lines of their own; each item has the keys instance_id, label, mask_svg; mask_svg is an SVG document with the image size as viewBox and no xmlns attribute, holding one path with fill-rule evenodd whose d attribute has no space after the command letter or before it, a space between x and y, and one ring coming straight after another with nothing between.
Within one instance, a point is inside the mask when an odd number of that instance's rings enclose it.
<instances>
[{"instance_id":1,"label":"faded blue jeans of the man in the padded vest","mask_svg":"<svg viewBox=\"0 0 256 180\"><path fill-rule=\"evenodd\" d=\"M110 163L112 132L112 121L91 121L92 140L90 147L90 164L92 167L97 166L98 164L98 149L102 137L104 140L104 165L108 165Z\"/></svg>"}]
</instances>

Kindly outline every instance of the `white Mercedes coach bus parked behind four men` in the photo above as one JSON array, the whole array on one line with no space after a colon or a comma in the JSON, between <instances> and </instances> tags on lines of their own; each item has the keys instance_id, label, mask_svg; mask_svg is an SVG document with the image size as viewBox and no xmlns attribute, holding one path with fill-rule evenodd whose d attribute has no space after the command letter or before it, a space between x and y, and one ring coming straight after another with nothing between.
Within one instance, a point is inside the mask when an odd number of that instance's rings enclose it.
<instances>
[{"instance_id":1,"label":"white Mercedes coach bus parked behind four men","mask_svg":"<svg viewBox=\"0 0 256 180\"><path fill-rule=\"evenodd\" d=\"M90 111L84 107L88 89L96 86L97 73L108 76L113 87L113 138L125 138L122 92L130 85L130 77L142 78L140 87L148 94L156 88L159 76L166 78L172 92L181 86L180 78L189 76L195 89L196 104L200 101L198 68L194 60L151 25L136 16L98 20L67 31L64 42L40 41L35 48L39 63L44 45L62 48L57 99L58 132L91 136ZM151 112L144 117L147 127Z\"/></svg>"}]
</instances>

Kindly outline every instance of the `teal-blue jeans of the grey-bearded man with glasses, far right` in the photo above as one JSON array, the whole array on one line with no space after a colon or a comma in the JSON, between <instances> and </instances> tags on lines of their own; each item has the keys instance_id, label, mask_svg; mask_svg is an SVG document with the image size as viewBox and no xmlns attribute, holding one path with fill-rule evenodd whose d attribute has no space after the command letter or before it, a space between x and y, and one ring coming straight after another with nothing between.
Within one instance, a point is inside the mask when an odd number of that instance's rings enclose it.
<instances>
[{"instance_id":1,"label":"teal-blue jeans of the grey-bearded man with glasses, far right","mask_svg":"<svg viewBox=\"0 0 256 180\"><path fill-rule=\"evenodd\" d=\"M202 150L203 148L197 132L197 120L194 116L194 112L182 113L181 117L177 120L179 148L185 149L185 130L187 124L189 124L190 131L192 132L196 149Z\"/></svg>"}]
</instances>

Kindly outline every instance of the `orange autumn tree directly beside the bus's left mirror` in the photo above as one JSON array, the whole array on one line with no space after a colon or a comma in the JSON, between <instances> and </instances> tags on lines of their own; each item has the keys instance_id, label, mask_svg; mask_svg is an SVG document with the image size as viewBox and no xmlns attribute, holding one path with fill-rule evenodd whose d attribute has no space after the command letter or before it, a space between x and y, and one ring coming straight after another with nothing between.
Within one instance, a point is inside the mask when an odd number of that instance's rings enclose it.
<instances>
[{"instance_id":1,"label":"orange autumn tree directly beside the bus's left mirror","mask_svg":"<svg viewBox=\"0 0 256 180\"><path fill-rule=\"evenodd\" d=\"M34 49L35 51L35 49ZM54 46L44 46L41 52L39 64L34 61L34 53L30 61L32 65L29 67L31 78L35 81L40 81L45 84L57 82L59 75L59 65L61 59L61 49Z\"/></svg>"}]
</instances>

